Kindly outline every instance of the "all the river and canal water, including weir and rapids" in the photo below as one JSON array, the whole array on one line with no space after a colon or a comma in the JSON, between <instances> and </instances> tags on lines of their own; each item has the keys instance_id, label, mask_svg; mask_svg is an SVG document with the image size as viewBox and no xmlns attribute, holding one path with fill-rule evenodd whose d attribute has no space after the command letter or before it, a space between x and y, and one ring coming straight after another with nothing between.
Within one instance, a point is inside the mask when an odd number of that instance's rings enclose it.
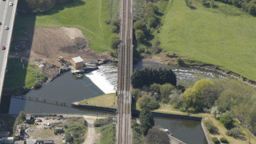
<instances>
[{"instance_id":1,"label":"all the river and canal water, including weir and rapids","mask_svg":"<svg viewBox=\"0 0 256 144\"><path fill-rule=\"evenodd\" d=\"M140 61L133 65L135 68L159 68L166 67L172 69L177 75L178 81L193 81L194 74L203 74L205 76L223 78L218 73L201 69L182 68L174 66L165 66L161 63L153 61ZM86 76L74 77L70 72L62 73L61 76L55 78L52 82L44 85L39 90L31 90L26 95L37 98L50 100L58 100L64 102L76 102L102 95L104 93L115 92L117 82L117 63L107 63L99 66L98 70L92 71ZM99 86L99 87L97 87ZM101 86L100 86L101 85ZM102 85L105 85L105 87ZM4 100L4 99L3 99ZM2 100L2 101L3 101ZM110 114L105 111L95 111L87 109L67 108L33 101L25 101L11 98L4 103L10 103L9 114L18 114L21 110L25 113L38 114L54 113L54 114ZM174 137L189 143L205 144L207 143L200 121L190 121L186 119L155 117L155 125L161 125L165 129L172 131Z\"/></svg>"}]
</instances>

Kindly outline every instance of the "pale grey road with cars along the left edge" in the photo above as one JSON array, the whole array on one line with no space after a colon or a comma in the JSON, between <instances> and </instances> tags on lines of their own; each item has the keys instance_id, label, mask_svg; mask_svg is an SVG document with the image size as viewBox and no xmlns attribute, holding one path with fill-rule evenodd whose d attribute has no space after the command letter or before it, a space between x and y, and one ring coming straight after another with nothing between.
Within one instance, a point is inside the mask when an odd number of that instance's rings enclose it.
<instances>
[{"instance_id":1,"label":"pale grey road with cars along the left edge","mask_svg":"<svg viewBox=\"0 0 256 144\"><path fill-rule=\"evenodd\" d=\"M13 5L10 6L9 3L12 2ZM7 65L7 57L9 53L9 47L12 37L12 29L14 25L15 11L17 9L18 0L1 0L0 1L0 45L5 45L5 50L0 50L0 102L3 91L5 68ZM5 26L8 29L5 29Z\"/></svg>"}]
</instances>

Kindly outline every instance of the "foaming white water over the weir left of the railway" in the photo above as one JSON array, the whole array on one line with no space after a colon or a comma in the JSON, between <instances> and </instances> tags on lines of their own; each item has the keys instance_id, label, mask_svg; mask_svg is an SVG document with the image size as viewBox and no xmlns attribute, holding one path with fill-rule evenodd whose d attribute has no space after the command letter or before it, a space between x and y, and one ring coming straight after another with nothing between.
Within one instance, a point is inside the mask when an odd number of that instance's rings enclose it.
<instances>
[{"instance_id":1,"label":"foaming white water over the weir left of the railway","mask_svg":"<svg viewBox=\"0 0 256 144\"><path fill-rule=\"evenodd\" d=\"M99 66L99 69L93 70L86 77L99 87L105 94L115 93L117 85L117 64L107 63Z\"/></svg>"}]
</instances>

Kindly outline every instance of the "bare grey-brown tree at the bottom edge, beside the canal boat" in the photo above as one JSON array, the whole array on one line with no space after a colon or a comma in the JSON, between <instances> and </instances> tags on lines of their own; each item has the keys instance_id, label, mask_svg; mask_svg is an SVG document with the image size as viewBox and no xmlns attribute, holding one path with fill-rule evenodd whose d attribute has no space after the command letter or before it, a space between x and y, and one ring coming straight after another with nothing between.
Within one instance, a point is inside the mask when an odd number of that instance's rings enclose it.
<instances>
[{"instance_id":1,"label":"bare grey-brown tree at the bottom edge, beside the canal boat","mask_svg":"<svg viewBox=\"0 0 256 144\"><path fill-rule=\"evenodd\" d=\"M153 126L152 129L149 129L148 134L145 137L145 142L149 144L169 144L169 136L166 132L160 129L162 128L159 125Z\"/></svg>"}]
</instances>

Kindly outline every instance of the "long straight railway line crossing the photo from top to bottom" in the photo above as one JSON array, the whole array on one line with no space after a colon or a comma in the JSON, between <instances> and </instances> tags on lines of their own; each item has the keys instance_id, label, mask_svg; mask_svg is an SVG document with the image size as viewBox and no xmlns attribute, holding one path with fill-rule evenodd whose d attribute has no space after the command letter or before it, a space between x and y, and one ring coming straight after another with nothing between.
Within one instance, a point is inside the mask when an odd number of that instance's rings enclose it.
<instances>
[{"instance_id":1,"label":"long straight railway line crossing the photo from top to bottom","mask_svg":"<svg viewBox=\"0 0 256 144\"><path fill-rule=\"evenodd\" d=\"M131 130L131 83L132 75L132 0L121 0L119 33L118 72L117 72L117 125L116 143L132 143Z\"/></svg>"}]
</instances>

